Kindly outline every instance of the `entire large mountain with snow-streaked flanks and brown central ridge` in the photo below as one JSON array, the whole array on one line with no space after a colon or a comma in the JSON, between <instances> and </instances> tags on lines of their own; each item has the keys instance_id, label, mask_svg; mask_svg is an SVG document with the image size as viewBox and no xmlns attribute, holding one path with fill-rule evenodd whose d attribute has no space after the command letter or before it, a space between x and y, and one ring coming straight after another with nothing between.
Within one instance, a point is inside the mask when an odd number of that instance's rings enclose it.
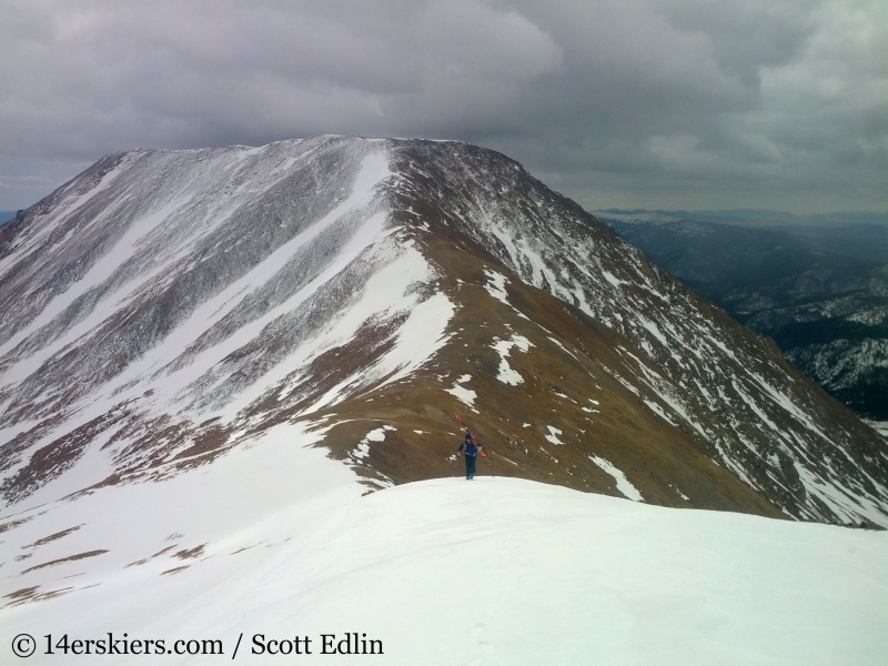
<instances>
[{"instance_id":1,"label":"entire large mountain with snow-streaked flanks and brown central ridge","mask_svg":"<svg viewBox=\"0 0 888 666\"><path fill-rule=\"evenodd\" d=\"M465 143L109 155L2 228L0 307L4 528L285 423L369 488L458 475L456 413L492 453L483 472L888 525L876 433Z\"/></svg>"}]
</instances>

